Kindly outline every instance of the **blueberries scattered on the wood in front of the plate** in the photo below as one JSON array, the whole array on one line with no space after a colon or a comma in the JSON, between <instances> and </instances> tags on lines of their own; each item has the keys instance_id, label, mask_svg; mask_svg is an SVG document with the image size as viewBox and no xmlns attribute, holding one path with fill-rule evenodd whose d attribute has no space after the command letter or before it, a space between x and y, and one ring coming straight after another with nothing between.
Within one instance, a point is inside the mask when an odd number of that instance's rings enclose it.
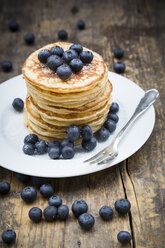
<instances>
[{"instance_id":1,"label":"blueberries scattered on the wood in front of the plate","mask_svg":"<svg viewBox=\"0 0 165 248\"><path fill-rule=\"evenodd\" d=\"M17 174L17 179L23 183L27 183L30 179L29 176ZM53 187L46 183L46 178L38 178L33 177L32 181L34 185L39 188L41 195L44 198L48 199L48 204L43 213L39 207L33 207L29 210L29 218L33 222L40 222L42 219L42 215L48 222L53 222L56 219L59 220L66 220L69 216L69 208L67 205L63 205L63 200L60 196L54 196L54 189ZM0 183L0 195L4 195L9 193L10 191L10 184L8 182ZM32 186L27 186L21 191L21 198L26 203L32 203L37 198L37 190ZM120 214L124 215L129 213L131 204L130 202L125 199L121 198L116 200L115 210ZM91 229L95 224L95 218L93 215L87 213L88 212L88 205L84 200L75 200L72 204L71 210L73 215L78 218L78 223L81 228L84 230ZM110 206L103 206L99 210L99 215L104 221L110 221L113 218L114 211ZM5 243L12 243L16 239L16 233L12 229L5 230L2 233L2 239ZM122 244L128 244L131 241L131 235L127 231L121 231L117 235L117 239Z\"/></svg>"}]
</instances>

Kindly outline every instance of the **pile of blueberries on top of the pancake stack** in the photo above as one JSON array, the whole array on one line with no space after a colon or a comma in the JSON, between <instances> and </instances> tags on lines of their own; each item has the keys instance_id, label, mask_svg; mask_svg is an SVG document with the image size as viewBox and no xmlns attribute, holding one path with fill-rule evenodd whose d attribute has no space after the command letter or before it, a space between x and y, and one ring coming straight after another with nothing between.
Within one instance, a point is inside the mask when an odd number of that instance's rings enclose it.
<instances>
[{"instance_id":1,"label":"pile of blueberries on top of the pancake stack","mask_svg":"<svg viewBox=\"0 0 165 248\"><path fill-rule=\"evenodd\" d=\"M83 51L80 44L73 44L65 52L60 46L54 46L50 50L43 49L39 52L38 59L56 72L59 78L67 80L72 72L78 73L84 64L90 63L93 54L90 51Z\"/></svg>"}]
</instances>

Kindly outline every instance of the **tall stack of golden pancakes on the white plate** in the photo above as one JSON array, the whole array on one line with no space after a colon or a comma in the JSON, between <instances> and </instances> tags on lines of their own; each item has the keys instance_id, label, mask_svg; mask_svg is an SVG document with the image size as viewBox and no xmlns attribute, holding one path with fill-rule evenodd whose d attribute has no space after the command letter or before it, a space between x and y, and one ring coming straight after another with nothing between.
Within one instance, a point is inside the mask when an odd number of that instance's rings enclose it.
<instances>
[{"instance_id":1,"label":"tall stack of golden pancakes on the white plate","mask_svg":"<svg viewBox=\"0 0 165 248\"><path fill-rule=\"evenodd\" d=\"M92 51L92 62L66 81L40 63L38 53L57 45L66 51L72 44L57 42L42 47L27 58L22 68L27 85L25 124L29 132L45 141L66 138L66 129L72 124L90 125L96 132L112 103L112 85L99 54Z\"/></svg>"}]
</instances>

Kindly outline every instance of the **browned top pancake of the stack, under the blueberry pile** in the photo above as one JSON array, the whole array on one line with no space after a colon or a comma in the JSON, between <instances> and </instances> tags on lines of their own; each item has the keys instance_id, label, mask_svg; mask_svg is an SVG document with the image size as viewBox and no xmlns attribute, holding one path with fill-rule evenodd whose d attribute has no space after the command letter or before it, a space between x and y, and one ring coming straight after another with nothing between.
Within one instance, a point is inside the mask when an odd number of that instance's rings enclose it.
<instances>
[{"instance_id":1,"label":"browned top pancake of the stack, under the blueberry pile","mask_svg":"<svg viewBox=\"0 0 165 248\"><path fill-rule=\"evenodd\" d=\"M108 78L108 70L103 58L85 47L84 51L93 53L90 64L84 65L80 73L72 73L68 80L61 80L55 72L38 60L38 53L43 49L51 49L53 46L61 46L64 51L68 50L72 43L56 42L46 45L32 53L25 61L22 73L26 80L34 86L57 93L81 92L94 88L102 80Z\"/></svg>"}]
</instances>

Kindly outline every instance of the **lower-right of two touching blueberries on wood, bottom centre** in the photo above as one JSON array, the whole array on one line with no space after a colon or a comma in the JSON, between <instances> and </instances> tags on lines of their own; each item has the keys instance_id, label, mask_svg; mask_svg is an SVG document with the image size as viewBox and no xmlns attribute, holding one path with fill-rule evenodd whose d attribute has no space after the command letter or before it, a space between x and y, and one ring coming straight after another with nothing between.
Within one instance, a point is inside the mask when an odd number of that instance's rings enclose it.
<instances>
[{"instance_id":1,"label":"lower-right of two touching blueberries on wood, bottom centre","mask_svg":"<svg viewBox=\"0 0 165 248\"><path fill-rule=\"evenodd\" d=\"M91 214L84 213L79 216L78 223L83 229L89 230L94 226L95 219Z\"/></svg>"}]
</instances>

